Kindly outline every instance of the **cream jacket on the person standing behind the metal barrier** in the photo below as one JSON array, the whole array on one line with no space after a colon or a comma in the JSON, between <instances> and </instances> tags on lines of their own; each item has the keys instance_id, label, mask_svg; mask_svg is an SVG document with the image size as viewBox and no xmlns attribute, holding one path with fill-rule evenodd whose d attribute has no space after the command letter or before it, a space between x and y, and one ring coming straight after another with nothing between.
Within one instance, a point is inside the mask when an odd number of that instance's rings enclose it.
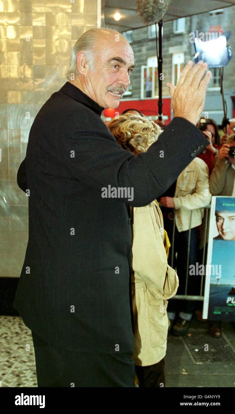
<instances>
[{"instance_id":1,"label":"cream jacket on the person standing behind the metal barrier","mask_svg":"<svg viewBox=\"0 0 235 414\"><path fill-rule=\"evenodd\" d=\"M200 226L204 207L211 202L209 169L202 159L195 157L179 175L173 200L178 231L189 230L191 211L191 228Z\"/></svg>"}]
</instances>

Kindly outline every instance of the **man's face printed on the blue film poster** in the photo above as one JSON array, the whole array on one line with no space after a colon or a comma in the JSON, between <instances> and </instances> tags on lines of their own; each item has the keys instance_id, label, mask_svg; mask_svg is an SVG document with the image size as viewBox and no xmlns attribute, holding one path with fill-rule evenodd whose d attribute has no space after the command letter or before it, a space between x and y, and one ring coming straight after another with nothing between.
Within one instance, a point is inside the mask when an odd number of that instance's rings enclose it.
<instances>
[{"instance_id":1,"label":"man's face printed on the blue film poster","mask_svg":"<svg viewBox=\"0 0 235 414\"><path fill-rule=\"evenodd\" d=\"M219 211L216 213L216 225L223 240L235 240L235 213Z\"/></svg>"}]
</instances>

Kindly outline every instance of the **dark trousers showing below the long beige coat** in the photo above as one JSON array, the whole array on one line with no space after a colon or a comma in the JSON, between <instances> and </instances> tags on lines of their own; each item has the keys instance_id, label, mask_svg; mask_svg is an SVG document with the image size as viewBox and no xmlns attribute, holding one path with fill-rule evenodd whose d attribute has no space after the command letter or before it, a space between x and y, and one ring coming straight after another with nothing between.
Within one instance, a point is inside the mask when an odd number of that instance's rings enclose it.
<instances>
[{"instance_id":1,"label":"dark trousers showing below the long beige coat","mask_svg":"<svg viewBox=\"0 0 235 414\"><path fill-rule=\"evenodd\" d=\"M149 366L135 366L135 372L139 380L139 388L144 387L165 387L165 361Z\"/></svg>"}]
</instances>

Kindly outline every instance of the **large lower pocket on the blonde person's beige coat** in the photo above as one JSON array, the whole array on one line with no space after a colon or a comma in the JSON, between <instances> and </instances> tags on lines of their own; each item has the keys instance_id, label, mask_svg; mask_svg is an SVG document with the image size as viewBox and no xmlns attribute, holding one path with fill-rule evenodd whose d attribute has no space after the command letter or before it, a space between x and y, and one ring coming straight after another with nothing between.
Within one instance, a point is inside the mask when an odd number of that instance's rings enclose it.
<instances>
[{"instance_id":1,"label":"large lower pocket on the blonde person's beige coat","mask_svg":"<svg viewBox=\"0 0 235 414\"><path fill-rule=\"evenodd\" d=\"M160 347L167 340L168 317L167 300L151 299L149 301L149 332L151 347Z\"/></svg>"}]
</instances>

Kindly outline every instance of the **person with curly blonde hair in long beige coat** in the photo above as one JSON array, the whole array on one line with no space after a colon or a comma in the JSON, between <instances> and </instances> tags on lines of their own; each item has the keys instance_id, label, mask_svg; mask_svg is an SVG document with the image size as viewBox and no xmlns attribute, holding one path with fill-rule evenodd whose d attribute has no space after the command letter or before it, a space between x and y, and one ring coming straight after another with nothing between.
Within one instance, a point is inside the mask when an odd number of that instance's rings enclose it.
<instances>
[{"instance_id":1,"label":"person with curly blonde hair in long beige coat","mask_svg":"<svg viewBox=\"0 0 235 414\"><path fill-rule=\"evenodd\" d=\"M161 128L146 116L130 113L108 123L122 148L138 156L158 139ZM167 263L161 210L156 200L145 207L131 207L132 306L134 354L139 387L165 386L164 357L167 344L169 298L178 287L178 277ZM168 244L169 246L169 244Z\"/></svg>"}]
</instances>

